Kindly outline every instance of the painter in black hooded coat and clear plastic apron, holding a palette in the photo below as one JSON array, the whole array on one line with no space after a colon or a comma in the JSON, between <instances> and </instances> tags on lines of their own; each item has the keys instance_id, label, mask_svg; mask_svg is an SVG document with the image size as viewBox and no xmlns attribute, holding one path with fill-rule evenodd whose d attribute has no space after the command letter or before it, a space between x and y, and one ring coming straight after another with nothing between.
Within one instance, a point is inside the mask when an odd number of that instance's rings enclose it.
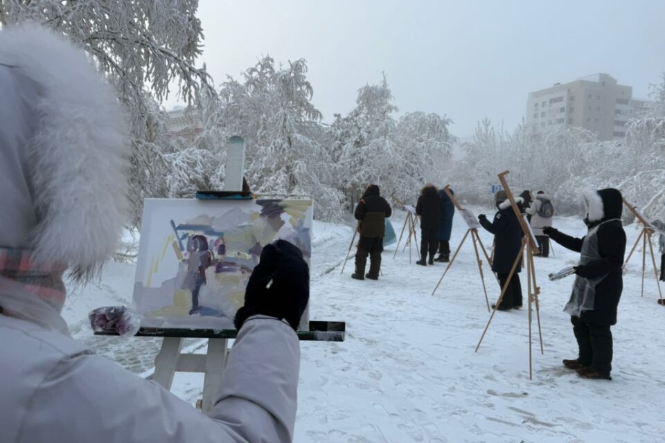
<instances>
[{"instance_id":1,"label":"painter in black hooded coat and clear plastic apron, holding a palette","mask_svg":"<svg viewBox=\"0 0 665 443\"><path fill-rule=\"evenodd\" d=\"M584 219L589 228L583 238L544 228L555 242L581 253L575 266L575 283L565 311L571 315L579 354L563 364L577 370L581 377L611 380L612 332L617 323L617 307L623 289L623 255L626 233L621 226L623 199L616 189L583 193L587 206Z\"/></svg>"}]
</instances>

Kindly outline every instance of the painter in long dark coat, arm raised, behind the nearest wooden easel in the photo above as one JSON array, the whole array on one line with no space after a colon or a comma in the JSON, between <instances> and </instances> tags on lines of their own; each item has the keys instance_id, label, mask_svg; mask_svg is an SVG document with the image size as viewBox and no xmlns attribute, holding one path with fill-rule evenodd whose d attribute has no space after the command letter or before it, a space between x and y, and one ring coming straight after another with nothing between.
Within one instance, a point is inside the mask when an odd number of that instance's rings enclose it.
<instances>
[{"instance_id":1,"label":"painter in long dark coat, arm raised, behind the nearest wooden easel","mask_svg":"<svg viewBox=\"0 0 665 443\"><path fill-rule=\"evenodd\" d=\"M497 273L499 284L503 290L508 282L508 275L513 269L515 260L522 254L522 237L524 232L520 221L515 217L515 212L511 207L511 201L508 200L506 192L501 190L496 193L495 201L499 212L494 216L494 221L490 222L484 214L478 216L480 224L490 233L494 234L494 260L492 261L492 271ZM522 204L522 198L515 199L518 205ZM522 307L522 284L520 275L522 269L522 260L517 263L515 272L508 287L504 293L499 306L492 305L493 309L499 311L508 311L510 309L520 309Z\"/></svg>"}]
</instances>

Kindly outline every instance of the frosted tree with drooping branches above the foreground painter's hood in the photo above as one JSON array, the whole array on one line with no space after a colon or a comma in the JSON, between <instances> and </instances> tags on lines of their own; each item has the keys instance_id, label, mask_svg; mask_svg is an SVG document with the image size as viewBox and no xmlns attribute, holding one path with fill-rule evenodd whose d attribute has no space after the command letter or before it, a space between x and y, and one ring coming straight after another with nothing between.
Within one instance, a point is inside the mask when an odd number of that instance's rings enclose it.
<instances>
[{"instance_id":1,"label":"frosted tree with drooping branches above the foreground painter's hood","mask_svg":"<svg viewBox=\"0 0 665 443\"><path fill-rule=\"evenodd\" d=\"M214 97L209 76L194 66L203 38L197 0L0 0L0 25L36 21L82 46L116 87L132 124L130 200L136 223L143 197L165 196L169 143L161 102L177 93L193 103L205 91Z\"/></svg>"}]
</instances>

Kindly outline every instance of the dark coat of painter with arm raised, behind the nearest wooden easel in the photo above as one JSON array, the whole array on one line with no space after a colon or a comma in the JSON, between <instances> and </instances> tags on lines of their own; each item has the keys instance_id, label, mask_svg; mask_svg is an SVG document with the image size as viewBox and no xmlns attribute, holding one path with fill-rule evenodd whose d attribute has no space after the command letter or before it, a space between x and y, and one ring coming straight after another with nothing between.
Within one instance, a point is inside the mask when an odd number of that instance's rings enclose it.
<instances>
[{"instance_id":1,"label":"dark coat of painter with arm raised, behind the nearest wooden easel","mask_svg":"<svg viewBox=\"0 0 665 443\"><path fill-rule=\"evenodd\" d=\"M518 206L522 204L522 198L515 199ZM511 201L499 198L497 200L499 212L494 216L493 221L486 217L478 217L480 224L490 233L494 234L494 258L492 260L492 271L498 274L507 274L511 272L517 255L522 253L522 226L515 217L515 211L511 207ZM522 270L522 260L517 263L515 272Z\"/></svg>"}]
</instances>

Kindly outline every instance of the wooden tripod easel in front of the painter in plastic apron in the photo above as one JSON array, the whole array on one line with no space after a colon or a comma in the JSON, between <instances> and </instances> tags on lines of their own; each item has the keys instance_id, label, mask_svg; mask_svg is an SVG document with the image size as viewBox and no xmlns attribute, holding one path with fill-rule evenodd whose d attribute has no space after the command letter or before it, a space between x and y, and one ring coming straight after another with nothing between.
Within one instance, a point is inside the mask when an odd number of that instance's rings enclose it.
<instances>
[{"instance_id":1,"label":"wooden tripod easel in front of the painter in plastic apron","mask_svg":"<svg viewBox=\"0 0 665 443\"><path fill-rule=\"evenodd\" d=\"M478 341L478 345L476 346L475 352L478 352L478 348L480 347L480 344L483 342L483 338L485 338L487 329L490 327L490 323L492 323L494 314L497 313L497 308L501 304L501 301L503 300L504 295L506 294L506 289L508 289L508 284L510 284L511 279L515 274L515 269L517 269L517 264L520 263L520 260L522 260L522 257L524 255L524 248L526 248L526 281L527 281L526 286L527 286L527 297L529 299L529 380L531 380L533 379L533 365L531 359L531 347L533 343L533 338L531 334L531 323L533 320L534 304L535 304L536 318L538 319L538 336L540 337L540 353L544 354L544 349L542 346L542 332L540 331L540 303L538 301L538 294L540 294L540 287L538 287L538 284L535 281L535 266L533 265L533 255L534 254L538 255L539 251L538 251L538 245L535 243L533 235L531 235L531 229L529 228L529 226L526 225L526 222L522 218L522 215L520 214L520 209L517 208L517 203L515 202L515 198L513 197L513 193L511 192L511 189L508 187L508 182L506 181L506 175L508 175L508 173L509 172L506 171L499 174L499 181L501 181L501 184L504 187L504 191L506 191L508 200L511 201L511 207L513 208L515 217L517 217L517 221L520 222L520 226L522 227L522 232L524 233L524 238L522 239L522 246L520 248L521 252L517 254L517 257L515 257L515 262L513 263L511 272L508 274L508 280L506 280L506 284L504 284L504 287L502 287L501 289L501 295L499 295L499 300L497 300L494 310L490 315L490 319L487 321L487 325L485 327L485 330L483 331L483 335L480 337L480 340Z\"/></svg>"}]
</instances>

